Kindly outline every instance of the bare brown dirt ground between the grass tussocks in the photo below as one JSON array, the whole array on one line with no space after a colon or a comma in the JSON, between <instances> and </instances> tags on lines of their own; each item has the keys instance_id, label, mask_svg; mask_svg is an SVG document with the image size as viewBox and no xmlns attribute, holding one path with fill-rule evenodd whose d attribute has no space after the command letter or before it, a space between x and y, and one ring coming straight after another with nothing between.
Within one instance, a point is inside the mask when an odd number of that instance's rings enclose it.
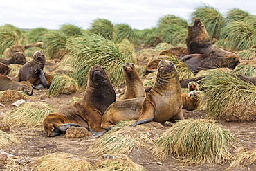
<instances>
[{"instance_id":1,"label":"bare brown dirt ground between the grass tussocks","mask_svg":"<svg viewBox=\"0 0 256 171\"><path fill-rule=\"evenodd\" d=\"M82 98L84 92L76 92L71 95L60 95L57 97L46 96L47 89L34 90L33 96L26 98L26 102L46 102L53 105L55 109L65 107L72 97ZM0 107L0 116L14 106ZM183 111L185 118L205 118L205 113L200 111ZM239 146L250 150L256 147L256 122L250 123L234 123L219 121L221 127L228 129L238 138ZM159 129L156 134L161 134L167 129ZM18 156L19 158L36 158L54 152L65 152L74 155L85 156L88 147L96 141L97 138L86 136L82 138L65 138L64 135L48 138L42 127L13 127L12 134L16 134L21 143L6 147L4 150L9 154ZM234 149L235 150L235 149ZM235 152L235 151L234 151ZM88 154L87 154L88 155ZM230 163L203 163L201 165L185 165L179 163L174 156L170 156L165 161L156 161L152 158L151 152L146 147L133 150L128 155L135 163L142 165L145 170L225 170ZM97 159L97 157L95 157ZM161 162L162 165L159 165ZM4 168L3 168L4 169ZM3 170L2 169L2 170ZM29 168L31 169L31 168ZM239 165L232 170L256 170L256 163L252 165Z\"/></svg>"}]
</instances>

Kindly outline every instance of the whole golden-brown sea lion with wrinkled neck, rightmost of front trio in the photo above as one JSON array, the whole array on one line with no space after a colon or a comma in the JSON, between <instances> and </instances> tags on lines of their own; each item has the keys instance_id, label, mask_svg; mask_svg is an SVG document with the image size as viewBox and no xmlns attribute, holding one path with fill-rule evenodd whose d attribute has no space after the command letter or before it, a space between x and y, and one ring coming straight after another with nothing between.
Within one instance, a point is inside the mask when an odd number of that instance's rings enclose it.
<instances>
[{"instance_id":1,"label":"whole golden-brown sea lion with wrinkled neck, rightmost of front trio","mask_svg":"<svg viewBox=\"0 0 256 171\"><path fill-rule=\"evenodd\" d=\"M132 127L156 121L184 119L182 113L181 87L174 64L161 60L154 86L144 98L114 102L102 117L102 128L111 129L117 121L138 119Z\"/></svg>"}]
</instances>

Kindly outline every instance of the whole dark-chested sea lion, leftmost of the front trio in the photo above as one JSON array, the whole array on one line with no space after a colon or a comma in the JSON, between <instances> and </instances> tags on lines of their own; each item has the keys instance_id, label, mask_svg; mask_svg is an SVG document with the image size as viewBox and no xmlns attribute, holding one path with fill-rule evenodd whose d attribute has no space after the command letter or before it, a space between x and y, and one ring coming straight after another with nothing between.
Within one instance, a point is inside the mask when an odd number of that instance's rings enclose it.
<instances>
[{"instance_id":1,"label":"whole dark-chested sea lion, leftmost of the front trio","mask_svg":"<svg viewBox=\"0 0 256 171\"><path fill-rule=\"evenodd\" d=\"M45 116L44 130L47 136L64 134L71 126L86 127L95 137L106 130L100 127L102 114L116 101L116 93L100 65L91 67L84 98Z\"/></svg>"}]
</instances>

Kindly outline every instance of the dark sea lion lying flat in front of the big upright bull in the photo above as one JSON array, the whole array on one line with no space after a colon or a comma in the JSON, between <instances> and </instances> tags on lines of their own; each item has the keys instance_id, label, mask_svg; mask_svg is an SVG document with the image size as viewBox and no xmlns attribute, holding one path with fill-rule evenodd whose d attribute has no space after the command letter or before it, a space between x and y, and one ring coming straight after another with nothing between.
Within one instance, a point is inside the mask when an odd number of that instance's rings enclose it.
<instances>
[{"instance_id":1,"label":"dark sea lion lying flat in front of the big upright bull","mask_svg":"<svg viewBox=\"0 0 256 171\"><path fill-rule=\"evenodd\" d=\"M193 73L197 73L203 69L235 69L235 66L240 63L238 57L216 57L199 53L185 55L180 60L183 61Z\"/></svg>"}]
</instances>

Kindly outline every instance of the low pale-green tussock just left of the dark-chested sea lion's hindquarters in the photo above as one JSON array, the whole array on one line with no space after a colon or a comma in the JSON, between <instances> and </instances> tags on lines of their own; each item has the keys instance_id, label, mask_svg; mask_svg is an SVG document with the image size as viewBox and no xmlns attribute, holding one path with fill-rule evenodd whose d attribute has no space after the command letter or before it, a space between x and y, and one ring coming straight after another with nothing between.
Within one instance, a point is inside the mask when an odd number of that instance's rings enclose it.
<instances>
[{"instance_id":1,"label":"low pale-green tussock just left of the dark-chested sea lion's hindquarters","mask_svg":"<svg viewBox=\"0 0 256 171\"><path fill-rule=\"evenodd\" d=\"M11 127L25 125L36 127L42 125L44 116L55 111L54 107L44 102L25 102L23 105L4 114L3 123Z\"/></svg>"}]
</instances>

